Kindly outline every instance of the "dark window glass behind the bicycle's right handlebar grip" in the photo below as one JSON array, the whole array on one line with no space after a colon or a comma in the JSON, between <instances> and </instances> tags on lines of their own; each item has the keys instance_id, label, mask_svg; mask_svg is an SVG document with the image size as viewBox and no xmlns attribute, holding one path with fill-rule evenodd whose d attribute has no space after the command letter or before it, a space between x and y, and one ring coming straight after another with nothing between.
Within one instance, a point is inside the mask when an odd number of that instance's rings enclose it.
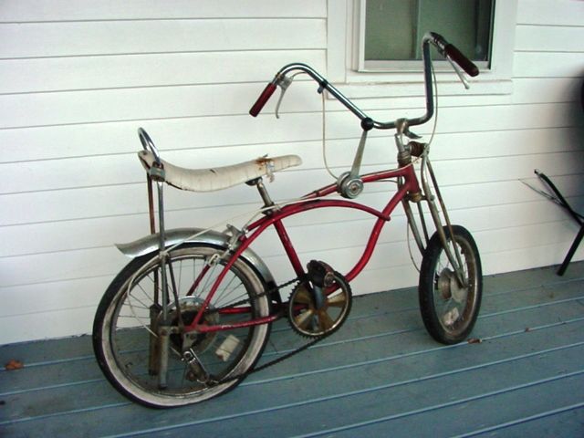
<instances>
[{"instance_id":1,"label":"dark window glass behind the bicycle's right handlebar grip","mask_svg":"<svg viewBox=\"0 0 584 438\"><path fill-rule=\"evenodd\" d=\"M445 36L479 68L488 68L493 0L362 0L359 71L416 68L422 36Z\"/></svg>"}]
</instances>

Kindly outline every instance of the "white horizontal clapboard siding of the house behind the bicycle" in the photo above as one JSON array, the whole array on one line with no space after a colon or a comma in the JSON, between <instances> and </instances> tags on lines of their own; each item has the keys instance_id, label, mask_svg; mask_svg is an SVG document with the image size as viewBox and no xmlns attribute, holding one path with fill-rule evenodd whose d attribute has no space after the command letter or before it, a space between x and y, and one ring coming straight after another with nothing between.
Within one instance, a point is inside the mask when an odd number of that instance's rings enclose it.
<instances>
[{"instance_id":1,"label":"white horizontal clapboard siding of the house behind the bicycle","mask_svg":"<svg viewBox=\"0 0 584 438\"><path fill-rule=\"evenodd\" d=\"M183 166L301 155L302 167L269 186L276 199L328 183L314 83L298 78L280 120L274 102L256 120L247 115L287 62L326 74L327 14L324 0L0 2L0 344L89 332L101 294L127 263L112 243L148 233L139 126ZM520 0L513 94L441 101L434 168L454 221L475 235L485 274L559 263L577 231L519 179L539 168L584 204L583 23L584 2ZM343 172L360 129L326 104L328 157ZM422 102L359 104L385 119L386 107L393 117ZM394 161L388 141L370 141L368 169ZM362 199L379 204L386 188ZM257 205L246 186L166 196L168 226L210 226ZM392 222L355 293L416 283L403 214ZM371 220L323 211L287 224L303 259L342 270ZM291 276L273 236L255 249L278 280Z\"/></svg>"}]
</instances>

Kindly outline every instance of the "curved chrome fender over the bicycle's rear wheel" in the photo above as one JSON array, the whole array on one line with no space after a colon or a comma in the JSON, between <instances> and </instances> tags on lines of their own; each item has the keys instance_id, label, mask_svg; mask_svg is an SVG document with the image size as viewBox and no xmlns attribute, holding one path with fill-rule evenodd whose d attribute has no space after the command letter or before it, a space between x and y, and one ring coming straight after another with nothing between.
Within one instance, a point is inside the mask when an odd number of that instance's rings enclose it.
<instances>
[{"instance_id":1,"label":"curved chrome fender over the bicycle's rear wheel","mask_svg":"<svg viewBox=\"0 0 584 438\"><path fill-rule=\"evenodd\" d=\"M199 235L200 233L203 234ZM167 230L164 234L166 235L166 246L189 242L226 248L227 245L229 245L229 239L231 238L231 235L219 233L213 230L204 231L203 228L174 228L172 230ZM196 236L193 237L193 235ZM146 235L141 239L135 240L128 244L116 244L116 247L123 255L134 258L140 255L149 254L153 251L157 251L158 242L159 235L157 233L155 235ZM272 273L264 261L259 258L259 255L256 255L252 249L245 249L241 256L248 265L255 268L255 271L263 278L266 285L270 287L276 285L274 276L272 276Z\"/></svg>"}]
</instances>

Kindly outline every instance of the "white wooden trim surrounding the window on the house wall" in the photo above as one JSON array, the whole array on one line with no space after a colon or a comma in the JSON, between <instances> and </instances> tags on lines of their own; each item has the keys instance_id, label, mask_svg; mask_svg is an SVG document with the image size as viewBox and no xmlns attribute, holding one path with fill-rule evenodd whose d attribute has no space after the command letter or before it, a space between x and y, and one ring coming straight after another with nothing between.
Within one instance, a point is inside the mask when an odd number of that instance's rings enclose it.
<instances>
[{"instance_id":1,"label":"white wooden trim surrounding the window on the house wall","mask_svg":"<svg viewBox=\"0 0 584 438\"><path fill-rule=\"evenodd\" d=\"M513 91L513 52L515 47L518 0L498 0L490 69L471 81L476 95L508 95ZM359 44L360 0L328 0L327 66L328 80L349 99L419 96L422 67L418 72L359 72L354 66L354 47ZM446 36L448 37L448 36ZM441 94L469 94L454 72L436 73ZM397 86L399 84L399 87Z\"/></svg>"}]
</instances>

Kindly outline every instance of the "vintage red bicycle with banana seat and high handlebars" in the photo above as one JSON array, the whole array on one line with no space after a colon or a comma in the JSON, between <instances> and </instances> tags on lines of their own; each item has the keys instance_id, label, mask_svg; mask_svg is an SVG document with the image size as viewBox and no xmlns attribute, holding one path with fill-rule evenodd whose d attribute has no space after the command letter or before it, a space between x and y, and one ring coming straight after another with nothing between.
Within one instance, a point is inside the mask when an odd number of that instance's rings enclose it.
<instances>
[{"instance_id":1,"label":"vintage red bicycle with banana seat and high handlebars","mask_svg":"<svg viewBox=\"0 0 584 438\"><path fill-rule=\"evenodd\" d=\"M481 304L480 255L472 235L463 226L451 224L428 158L429 145L417 141L419 137L410 130L431 120L434 113L431 45L451 61L463 81L455 64L470 76L478 74L474 64L443 36L426 34L422 40L426 112L415 119L372 120L305 64L289 64L276 73L250 110L251 115L262 110L278 87L283 96L294 75L305 73L318 83L319 93L328 92L357 116L362 128L349 172L297 200L276 203L264 184L265 177L299 165L301 160L296 155L212 169L184 169L164 162L148 133L139 130L143 147L139 158L148 173L152 234L118 245L133 260L108 287L93 326L99 366L118 391L151 407L204 401L235 388L254 370L326 338L347 319L350 282L369 262L382 227L400 203L422 253L419 302L423 323L434 339L445 344L466 339ZM360 173L370 130L396 130L396 169ZM414 161L418 161L415 166ZM382 210L356 201L366 184L380 181L397 183L397 190L390 193ZM247 183L258 191L263 206L244 226L227 225L224 232L165 229L164 183L193 192ZM154 184L158 232L154 224ZM435 226L432 236L422 203L427 204ZM412 204L417 207L418 217ZM283 224L289 216L333 207L356 209L374 219L358 262L342 274L319 260L303 266ZM266 263L251 248L269 227L276 230L295 273L283 284L276 283ZM282 297L286 288L291 288L291 293ZM279 318L287 318L291 328L308 340L284 357L254 368L266 346L270 326Z\"/></svg>"}]
</instances>

